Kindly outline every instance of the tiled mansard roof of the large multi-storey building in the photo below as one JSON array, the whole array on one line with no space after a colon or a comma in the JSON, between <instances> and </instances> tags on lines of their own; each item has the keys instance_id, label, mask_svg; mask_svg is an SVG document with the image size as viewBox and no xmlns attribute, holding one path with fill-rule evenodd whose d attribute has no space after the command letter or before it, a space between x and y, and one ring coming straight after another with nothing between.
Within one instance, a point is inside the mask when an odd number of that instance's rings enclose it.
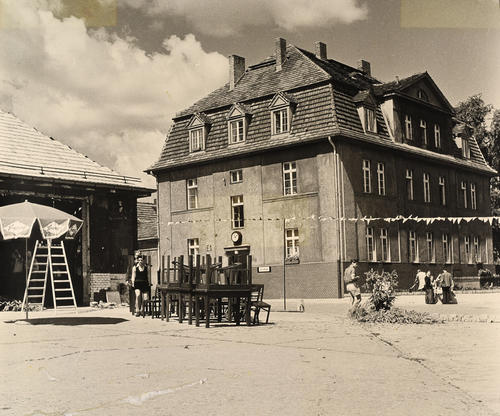
<instances>
[{"instance_id":1,"label":"tiled mansard roof of the large multi-storey building","mask_svg":"<svg viewBox=\"0 0 500 416\"><path fill-rule=\"evenodd\" d=\"M449 155L393 143L379 106L376 107L377 132L365 133L357 111L357 99L373 99L375 102L381 101L386 94L404 95L405 88L419 81L427 82L428 89L441 97L441 92L427 73L404 78L399 80L399 84L381 83L361 70L332 59L320 59L293 45L287 46L286 59L280 71L276 71L275 64L275 58L268 57L259 64L249 66L234 89L230 90L229 84L226 84L178 113L160 158L149 171L239 157L325 140L328 136L343 136L384 145L392 143L391 146L402 151L419 154L423 150L425 155L433 154L434 158L449 162ZM296 105L290 131L276 137L271 132L269 111L273 99L279 94ZM245 106L252 114L244 146L228 146L227 115L235 103ZM448 102L443 103L445 106ZM210 132L206 138L205 151L190 153L186 127L192 115L200 112L210 119ZM476 156L475 152L473 154ZM451 157L456 163L469 168L493 172L480 157L474 157L470 163Z\"/></svg>"}]
</instances>

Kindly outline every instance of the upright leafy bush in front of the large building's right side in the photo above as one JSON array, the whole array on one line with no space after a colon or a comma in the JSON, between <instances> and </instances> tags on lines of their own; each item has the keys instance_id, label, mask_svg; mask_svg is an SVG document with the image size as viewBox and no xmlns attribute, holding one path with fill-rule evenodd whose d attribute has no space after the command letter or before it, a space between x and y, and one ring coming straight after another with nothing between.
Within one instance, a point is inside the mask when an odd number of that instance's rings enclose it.
<instances>
[{"instance_id":1,"label":"upright leafy bush in front of the large building's right side","mask_svg":"<svg viewBox=\"0 0 500 416\"><path fill-rule=\"evenodd\" d=\"M388 273L370 269L365 273L366 282L365 287L371 290L368 302L373 305L373 308L378 310L389 310L396 300L396 287L398 286L398 274L395 270Z\"/></svg>"}]
</instances>

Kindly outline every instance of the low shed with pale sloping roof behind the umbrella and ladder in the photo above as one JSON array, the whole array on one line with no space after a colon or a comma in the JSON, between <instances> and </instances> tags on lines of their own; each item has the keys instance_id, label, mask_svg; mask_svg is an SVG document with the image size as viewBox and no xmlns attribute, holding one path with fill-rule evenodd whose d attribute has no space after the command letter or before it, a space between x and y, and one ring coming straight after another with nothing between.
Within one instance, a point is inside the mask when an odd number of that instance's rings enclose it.
<instances>
[{"instance_id":1,"label":"low shed with pale sloping roof behind the umbrella and ladder","mask_svg":"<svg viewBox=\"0 0 500 416\"><path fill-rule=\"evenodd\" d=\"M137 198L152 192L140 179L99 165L0 111L0 205L29 200L83 219L81 231L65 241L79 305L125 282L138 245ZM22 299L26 254L41 237L37 231L28 241L0 236L1 296Z\"/></svg>"}]
</instances>

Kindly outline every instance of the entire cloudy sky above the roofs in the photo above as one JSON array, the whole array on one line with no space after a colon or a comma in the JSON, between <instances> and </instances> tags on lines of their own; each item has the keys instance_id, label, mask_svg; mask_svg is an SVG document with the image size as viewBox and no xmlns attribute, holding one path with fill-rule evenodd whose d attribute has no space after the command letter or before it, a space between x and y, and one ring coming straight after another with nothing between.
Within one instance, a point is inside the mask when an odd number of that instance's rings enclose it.
<instances>
[{"instance_id":1,"label":"entire cloudy sky above the roofs","mask_svg":"<svg viewBox=\"0 0 500 416\"><path fill-rule=\"evenodd\" d=\"M0 0L0 108L154 186L172 117L277 37L500 109L498 0Z\"/></svg>"}]
</instances>

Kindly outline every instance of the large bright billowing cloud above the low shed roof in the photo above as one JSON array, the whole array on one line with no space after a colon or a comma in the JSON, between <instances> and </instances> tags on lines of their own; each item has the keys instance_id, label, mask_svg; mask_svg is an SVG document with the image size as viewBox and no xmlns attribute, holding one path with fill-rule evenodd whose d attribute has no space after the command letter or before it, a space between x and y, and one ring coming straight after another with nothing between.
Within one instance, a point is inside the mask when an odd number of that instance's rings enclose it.
<instances>
[{"instance_id":1,"label":"large bright billowing cloud above the low shed roof","mask_svg":"<svg viewBox=\"0 0 500 416\"><path fill-rule=\"evenodd\" d=\"M56 18L54 4L0 0L9 23L0 28L0 107L140 176L158 158L173 115L226 81L227 59L193 35L171 36L161 53L147 54L133 38Z\"/></svg>"}]
</instances>

